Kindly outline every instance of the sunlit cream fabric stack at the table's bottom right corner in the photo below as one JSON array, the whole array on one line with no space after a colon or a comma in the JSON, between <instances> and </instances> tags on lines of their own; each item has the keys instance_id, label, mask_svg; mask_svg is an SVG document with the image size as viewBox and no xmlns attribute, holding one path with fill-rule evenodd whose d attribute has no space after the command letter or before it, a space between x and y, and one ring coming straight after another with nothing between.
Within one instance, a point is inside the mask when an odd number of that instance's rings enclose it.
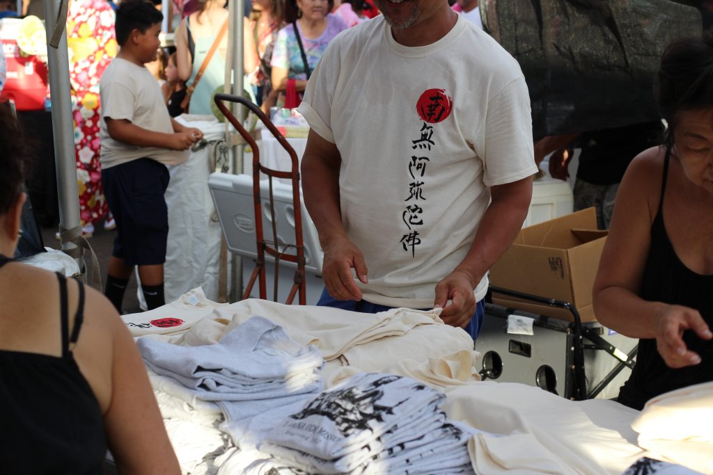
<instances>
[{"instance_id":1,"label":"sunlit cream fabric stack at the table's bottom right corner","mask_svg":"<svg viewBox=\"0 0 713 475\"><path fill-rule=\"evenodd\" d=\"M632 429L641 447L713 474L713 382L682 387L646 403Z\"/></svg>"}]
</instances>

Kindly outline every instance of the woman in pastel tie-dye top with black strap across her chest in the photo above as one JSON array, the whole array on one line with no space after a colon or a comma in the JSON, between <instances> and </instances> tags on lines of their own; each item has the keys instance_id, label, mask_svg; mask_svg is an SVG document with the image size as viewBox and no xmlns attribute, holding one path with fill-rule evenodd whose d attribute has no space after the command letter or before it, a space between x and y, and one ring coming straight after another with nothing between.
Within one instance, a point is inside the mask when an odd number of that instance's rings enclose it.
<instances>
[{"instance_id":1,"label":"woman in pastel tie-dye top with black strap across her chest","mask_svg":"<svg viewBox=\"0 0 713 475\"><path fill-rule=\"evenodd\" d=\"M292 89L299 94L307 87L309 75L329 41L347 29L342 19L329 13L332 5L332 0L297 0L297 19L277 33L272 88L281 93ZM277 105L284 105L284 96L280 96Z\"/></svg>"}]
</instances>

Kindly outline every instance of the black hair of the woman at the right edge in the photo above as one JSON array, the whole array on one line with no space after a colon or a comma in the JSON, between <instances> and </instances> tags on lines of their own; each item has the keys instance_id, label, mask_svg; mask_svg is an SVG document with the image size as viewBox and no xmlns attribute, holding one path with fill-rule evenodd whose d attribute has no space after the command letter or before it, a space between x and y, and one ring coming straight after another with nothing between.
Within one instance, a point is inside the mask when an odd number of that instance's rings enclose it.
<instances>
[{"instance_id":1,"label":"black hair of the woman at the right edge","mask_svg":"<svg viewBox=\"0 0 713 475\"><path fill-rule=\"evenodd\" d=\"M661 57L659 109L668 123L664 143L672 147L678 113L713 108L713 35L674 41Z\"/></svg>"}]
</instances>

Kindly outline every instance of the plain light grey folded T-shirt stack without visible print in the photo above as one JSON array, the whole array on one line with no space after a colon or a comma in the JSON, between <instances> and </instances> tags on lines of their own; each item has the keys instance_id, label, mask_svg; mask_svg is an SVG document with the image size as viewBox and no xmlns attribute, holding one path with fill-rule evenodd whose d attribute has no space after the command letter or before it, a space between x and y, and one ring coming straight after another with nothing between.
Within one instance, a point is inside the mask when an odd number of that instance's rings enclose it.
<instances>
[{"instance_id":1,"label":"plain light grey folded T-shirt stack without visible print","mask_svg":"<svg viewBox=\"0 0 713 475\"><path fill-rule=\"evenodd\" d=\"M215 402L228 422L309 400L322 390L319 350L295 343L259 316L215 345L182 347L148 338L137 345L150 370L178 381L189 395Z\"/></svg>"}]
</instances>

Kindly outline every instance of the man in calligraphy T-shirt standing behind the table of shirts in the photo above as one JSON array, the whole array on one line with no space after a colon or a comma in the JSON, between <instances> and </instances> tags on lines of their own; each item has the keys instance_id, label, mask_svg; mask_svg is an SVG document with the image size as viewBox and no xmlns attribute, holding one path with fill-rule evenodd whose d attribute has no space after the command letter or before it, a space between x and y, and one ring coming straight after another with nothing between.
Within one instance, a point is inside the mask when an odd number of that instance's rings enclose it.
<instances>
[{"instance_id":1,"label":"man in calligraphy T-shirt standing behind the table of shirts","mask_svg":"<svg viewBox=\"0 0 713 475\"><path fill-rule=\"evenodd\" d=\"M319 304L443 308L475 337L537 172L525 79L448 1L376 4L383 16L329 44L299 107Z\"/></svg>"}]
</instances>

